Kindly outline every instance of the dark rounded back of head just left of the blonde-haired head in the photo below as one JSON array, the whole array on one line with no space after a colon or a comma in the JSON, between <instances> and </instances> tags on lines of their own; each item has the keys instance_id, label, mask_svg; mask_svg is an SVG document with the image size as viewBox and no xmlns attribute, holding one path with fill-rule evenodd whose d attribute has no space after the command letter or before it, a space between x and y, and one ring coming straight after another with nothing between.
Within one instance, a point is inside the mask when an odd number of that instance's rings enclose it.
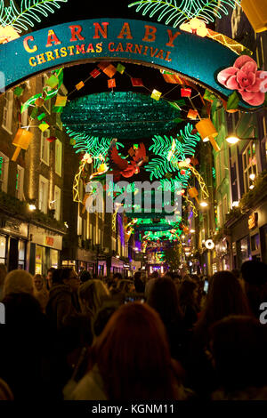
<instances>
[{"instance_id":1,"label":"dark rounded back of head just left of the blonde-haired head","mask_svg":"<svg viewBox=\"0 0 267 418\"><path fill-rule=\"evenodd\" d=\"M69 319L79 311L77 297L69 285L53 285L49 292L46 315L53 326L61 329L69 325Z\"/></svg>"}]
</instances>

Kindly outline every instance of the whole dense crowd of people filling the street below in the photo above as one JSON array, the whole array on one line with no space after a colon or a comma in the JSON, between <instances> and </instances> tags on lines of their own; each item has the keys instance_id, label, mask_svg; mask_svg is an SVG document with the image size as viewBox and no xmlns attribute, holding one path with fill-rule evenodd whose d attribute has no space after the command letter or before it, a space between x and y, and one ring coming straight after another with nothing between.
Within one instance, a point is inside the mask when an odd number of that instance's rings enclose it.
<instances>
[{"instance_id":1,"label":"whole dense crowd of people filling the street below","mask_svg":"<svg viewBox=\"0 0 267 418\"><path fill-rule=\"evenodd\" d=\"M0 265L0 399L267 399L267 265L180 273Z\"/></svg>"}]
</instances>

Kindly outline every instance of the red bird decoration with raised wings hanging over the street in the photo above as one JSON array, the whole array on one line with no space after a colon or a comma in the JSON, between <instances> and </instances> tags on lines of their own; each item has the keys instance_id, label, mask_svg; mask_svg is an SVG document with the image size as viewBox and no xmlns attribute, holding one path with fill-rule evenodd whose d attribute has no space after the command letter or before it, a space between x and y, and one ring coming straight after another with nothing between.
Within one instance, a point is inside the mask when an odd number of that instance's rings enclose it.
<instances>
[{"instance_id":1,"label":"red bird decoration with raised wings hanging over the street","mask_svg":"<svg viewBox=\"0 0 267 418\"><path fill-rule=\"evenodd\" d=\"M129 149L129 155L133 157L133 160L128 163L125 158L122 158L118 154L116 142L111 144L110 147L110 162L113 171L111 172L115 176L115 181L120 179L122 175L125 178L133 177L134 174L140 173L140 166L148 161L146 155L146 148L144 144L140 144L138 149Z\"/></svg>"}]
</instances>

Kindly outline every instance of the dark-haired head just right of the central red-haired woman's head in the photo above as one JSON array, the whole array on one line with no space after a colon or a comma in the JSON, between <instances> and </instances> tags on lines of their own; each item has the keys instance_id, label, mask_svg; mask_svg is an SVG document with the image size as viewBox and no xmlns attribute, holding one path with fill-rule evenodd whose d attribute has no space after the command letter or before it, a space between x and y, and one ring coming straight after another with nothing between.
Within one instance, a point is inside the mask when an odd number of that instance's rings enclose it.
<instances>
[{"instance_id":1,"label":"dark-haired head just right of the central red-haired woman's head","mask_svg":"<svg viewBox=\"0 0 267 418\"><path fill-rule=\"evenodd\" d=\"M157 310L165 324L181 317L177 289L171 278L155 280L149 288L147 303Z\"/></svg>"}]
</instances>

